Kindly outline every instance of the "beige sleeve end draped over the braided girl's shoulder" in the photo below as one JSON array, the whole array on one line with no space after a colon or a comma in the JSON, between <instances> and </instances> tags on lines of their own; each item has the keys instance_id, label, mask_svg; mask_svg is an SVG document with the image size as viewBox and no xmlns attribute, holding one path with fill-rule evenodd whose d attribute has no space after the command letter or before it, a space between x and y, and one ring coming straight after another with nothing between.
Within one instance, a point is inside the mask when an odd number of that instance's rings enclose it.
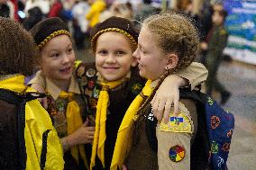
<instances>
[{"instance_id":1,"label":"beige sleeve end draped over the braided girl's shoulder","mask_svg":"<svg viewBox=\"0 0 256 170\"><path fill-rule=\"evenodd\" d=\"M195 86L206 81L208 70L203 64L192 62L187 68L178 71L177 75L186 78L193 90Z\"/></svg>"}]
</instances>

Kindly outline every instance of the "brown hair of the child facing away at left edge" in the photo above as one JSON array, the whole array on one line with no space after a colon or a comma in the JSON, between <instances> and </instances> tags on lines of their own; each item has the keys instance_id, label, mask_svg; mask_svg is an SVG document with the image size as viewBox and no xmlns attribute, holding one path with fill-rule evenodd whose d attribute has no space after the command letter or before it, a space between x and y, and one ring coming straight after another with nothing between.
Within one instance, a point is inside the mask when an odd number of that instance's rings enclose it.
<instances>
[{"instance_id":1,"label":"brown hair of the child facing away at left edge","mask_svg":"<svg viewBox=\"0 0 256 170\"><path fill-rule=\"evenodd\" d=\"M0 17L0 74L32 75L38 51L29 32L18 23Z\"/></svg>"}]
</instances>

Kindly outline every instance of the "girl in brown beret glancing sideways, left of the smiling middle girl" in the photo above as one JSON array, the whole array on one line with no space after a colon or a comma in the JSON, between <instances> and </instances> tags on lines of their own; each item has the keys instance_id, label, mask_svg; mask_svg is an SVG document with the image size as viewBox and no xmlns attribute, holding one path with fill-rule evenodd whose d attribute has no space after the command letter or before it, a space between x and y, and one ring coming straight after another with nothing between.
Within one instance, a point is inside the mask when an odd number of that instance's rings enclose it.
<instances>
[{"instance_id":1,"label":"girl in brown beret glancing sideways, left of the smiling middle girl","mask_svg":"<svg viewBox=\"0 0 256 170\"><path fill-rule=\"evenodd\" d=\"M95 127L88 126L85 101L72 75L75 53L69 29L59 18L50 18L30 32L41 52L41 71L29 84L41 85L47 93L46 109L65 151L64 169L88 168L84 144L93 141Z\"/></svg>"}]
</instances>

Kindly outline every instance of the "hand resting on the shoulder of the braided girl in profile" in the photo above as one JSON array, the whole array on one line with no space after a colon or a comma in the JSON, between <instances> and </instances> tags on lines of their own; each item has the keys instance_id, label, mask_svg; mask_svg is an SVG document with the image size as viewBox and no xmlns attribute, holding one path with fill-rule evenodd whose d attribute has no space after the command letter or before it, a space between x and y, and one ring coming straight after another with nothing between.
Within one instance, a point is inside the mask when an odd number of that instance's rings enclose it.
<instances>
[{"instance_id":1,"label":"hand resting on the shoulder of the braided girl in profile","mask_svg":"<svg viewBox=\"0 0 256 170\"><path fill-rule=\"evenodd\" d=\"M187 79L180 76L171 75L166 77L151 101L153 114L158 121L162 121L163 119L165 123L168 123L172 103L174 109L173 113L175 116L178 116L178 87L185 86L187 84Z\"/></svg>"}]
</instances>

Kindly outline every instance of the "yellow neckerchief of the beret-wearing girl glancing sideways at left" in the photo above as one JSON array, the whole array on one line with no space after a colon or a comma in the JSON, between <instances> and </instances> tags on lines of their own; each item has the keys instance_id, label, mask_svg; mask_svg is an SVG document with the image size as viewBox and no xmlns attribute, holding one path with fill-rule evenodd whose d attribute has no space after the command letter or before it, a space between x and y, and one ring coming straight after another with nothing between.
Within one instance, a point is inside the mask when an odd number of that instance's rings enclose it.
<instances>
[{"instance_id":1,"label":"yellow neckerchief of the beret-wearing girl glancing sideways at left","mask_svg":"<svg viewBox=\"0 0 256 170\"><path fill-rule=\"evenodd\" d=\"M72 134L74 131L78 130L82 125L82 117L80 113L80 108L78 103L74 100L74 93L67 93L62 91L59 94L60 98L68 99L68 106L66 109L66 119L67 119L67 126L68 126L68 134ZM79 163L79 155L81 156L82 160L84 161L85 166L88 168L87 157L85 152L84 145L75 145L70 148L71 155L74 157Z\"/></svg>"}]
</instances>

